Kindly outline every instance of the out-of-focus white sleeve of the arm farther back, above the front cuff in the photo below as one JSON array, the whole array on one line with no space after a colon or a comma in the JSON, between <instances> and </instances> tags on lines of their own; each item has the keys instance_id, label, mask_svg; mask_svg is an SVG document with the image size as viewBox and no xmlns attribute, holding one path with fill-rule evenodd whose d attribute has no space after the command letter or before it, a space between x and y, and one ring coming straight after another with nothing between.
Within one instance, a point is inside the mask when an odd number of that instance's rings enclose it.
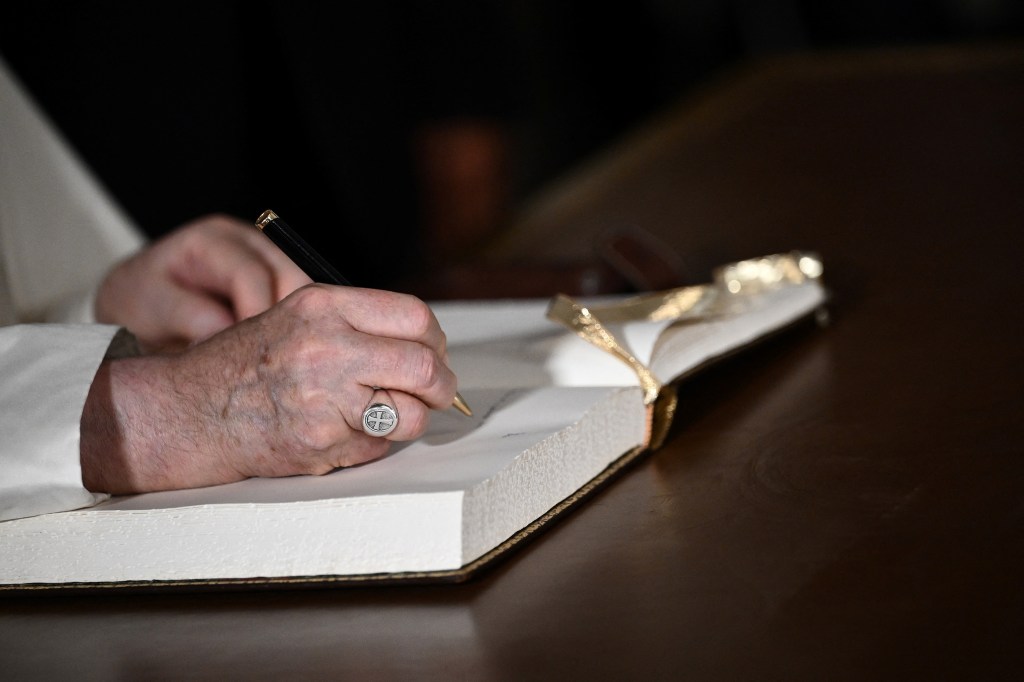
<instances>
[{"instance_id":1,"label":"out-of-focus white sleeve of the arm farther back, above the front cuff","mask_svg":"<svg viewBox=\"0 0 1024 682\"><path fill-rule=\"evenodd\" d=\"M91 292L143 243L0 59L0 322L88 322Z\"/></svg>"}]
</instances>

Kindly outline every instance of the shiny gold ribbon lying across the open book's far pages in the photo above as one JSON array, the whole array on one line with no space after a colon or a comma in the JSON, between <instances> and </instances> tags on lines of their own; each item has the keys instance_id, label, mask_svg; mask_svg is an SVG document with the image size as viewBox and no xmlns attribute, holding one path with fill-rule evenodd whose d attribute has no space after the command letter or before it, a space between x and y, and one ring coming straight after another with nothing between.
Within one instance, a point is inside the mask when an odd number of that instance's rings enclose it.
<instances>
[{"instance_id":1,"label":"shiny gold ribbon lying across the open book's far pages","mask_svg":"<svg viewBox=\"0 0 1024 682\"><path fill-rule=\"evenodd\" d=\"M821 260L816 254L791 251L718 267L710 284L642 294L614 303L588 307L559 294L548 307L548 318L564 325L589 343L626 363L640 381L644 404L651 406L664 392L662 382L605 325L697 322L725 315L743 297L817 280L821 271ZM674 406L670 409L674 410Z\"/></svg>"}]
</instances>

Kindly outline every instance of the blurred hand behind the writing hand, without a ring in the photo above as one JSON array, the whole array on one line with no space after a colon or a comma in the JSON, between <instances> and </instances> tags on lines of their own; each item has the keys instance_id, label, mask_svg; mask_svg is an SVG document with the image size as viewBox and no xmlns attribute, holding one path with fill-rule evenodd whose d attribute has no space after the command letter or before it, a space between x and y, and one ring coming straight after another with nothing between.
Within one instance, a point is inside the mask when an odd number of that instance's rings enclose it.
<instances>
[{"instance_id":1,"label":"blurred hand behind the writing hand, without a ring","mask_svg":"<svg viewBox=\"0 0 1024 682\"><path fill-rule=\"evenodd\" d=\"M127 327L143 348L180 347L266 310L308 283L255 227L211 215L115 266L99 288L96 318Z\"/></svg>"}]
</instances>

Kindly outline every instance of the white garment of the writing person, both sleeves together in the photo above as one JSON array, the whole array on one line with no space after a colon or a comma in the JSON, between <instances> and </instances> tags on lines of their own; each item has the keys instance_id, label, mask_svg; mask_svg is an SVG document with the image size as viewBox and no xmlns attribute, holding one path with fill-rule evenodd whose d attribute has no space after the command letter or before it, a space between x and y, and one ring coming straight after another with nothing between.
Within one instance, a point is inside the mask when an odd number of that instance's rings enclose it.
<instances>
[{"instance_id":1,"label":"white garment of the writing person, both sleeves together","mask_svg":"<svg viewBox=\"0 0 1024 682\"><path fill-rule=\"evenodd\" d=\"M103 273L139 231L0 60L0 520L105 496L82 485L79 423L118 328Z\"/></svg>"}]
</instances>

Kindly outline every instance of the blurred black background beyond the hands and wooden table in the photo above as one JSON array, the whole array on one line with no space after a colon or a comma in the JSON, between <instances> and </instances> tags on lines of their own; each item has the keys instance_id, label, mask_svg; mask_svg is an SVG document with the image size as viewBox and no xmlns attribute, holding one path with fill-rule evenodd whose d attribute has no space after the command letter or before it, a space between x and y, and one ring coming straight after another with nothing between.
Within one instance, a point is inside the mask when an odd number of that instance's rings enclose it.
<instances>
[{"instance_id":1,"label":"blurred black background beyond the hands and wooden table","mask_svg":"<svg viewBox=\"0 0 1024 682\"><path fill-rule=\"evenodd\" d=\"M272 208L422 293L736 65L1022 37L1019 0L8 0L0 55L150 236Z\"/></svg>"}]
</instances>

